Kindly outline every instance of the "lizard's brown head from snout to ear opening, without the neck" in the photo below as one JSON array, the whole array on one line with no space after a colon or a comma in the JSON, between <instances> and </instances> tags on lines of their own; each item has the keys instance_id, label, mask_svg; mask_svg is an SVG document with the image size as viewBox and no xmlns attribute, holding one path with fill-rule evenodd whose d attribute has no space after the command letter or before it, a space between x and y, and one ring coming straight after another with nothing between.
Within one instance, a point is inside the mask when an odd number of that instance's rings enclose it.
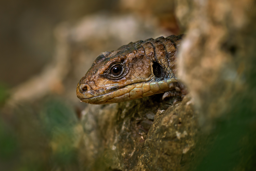
<instances>
[{"instance_id":1,"label":"lizard's brown head from snout to ear opening, without the neck","mask_svg":"<svg viewBox=\"0 0 256 171\"><path fill-rule=\"evenodd\" d=\"M170 89L166 81L170 82L171 79L171 82L175 82L172 79L175 75L168 68L167 60L161 60L160 64L157 62L160 60L155 58L155 47L147 43L131 42L116 51L100 54L79 81L77 97L90 104L106 104Z\"/></svg>"}]
</instances>

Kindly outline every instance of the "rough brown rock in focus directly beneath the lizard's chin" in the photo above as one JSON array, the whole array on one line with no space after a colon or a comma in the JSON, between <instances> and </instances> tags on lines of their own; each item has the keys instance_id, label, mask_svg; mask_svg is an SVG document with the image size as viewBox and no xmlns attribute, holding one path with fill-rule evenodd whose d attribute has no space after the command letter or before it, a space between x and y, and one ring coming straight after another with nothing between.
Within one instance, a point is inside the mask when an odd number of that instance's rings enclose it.
<instances>
[{"instance_id":1,"label":"rough brown rock in focus directly beneath the lizard's chin","mask_svg":"<svg viewBox=\"0 0 256 171\"><path fill-rule=\"evenodd\" d=\"M107 161L106 167L115 170L177 170L189 161L198 126L191 98L187 95L175 105L161 99L161 95L155 95L84 111L84 116L101 118L97 123L100 128L94 127L98 134L86 135L94 136L90 139L104 140L104 151L98 151L97 155L104 153L102 160ZM154 121L148 119L148 113L153 112ZM88 128L91 128L88 124L95 123L85 117L83 121ZM89 146L97 144L97 141L92 141L91 145L86 142Z\"/></svg>"}]
</instances>

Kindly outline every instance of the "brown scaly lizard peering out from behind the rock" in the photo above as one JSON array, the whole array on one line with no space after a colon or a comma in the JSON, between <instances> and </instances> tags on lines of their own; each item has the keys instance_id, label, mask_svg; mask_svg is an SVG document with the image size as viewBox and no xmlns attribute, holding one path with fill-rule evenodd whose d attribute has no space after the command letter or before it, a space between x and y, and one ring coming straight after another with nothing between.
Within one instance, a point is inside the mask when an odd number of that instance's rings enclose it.
<instances>
[{"instance_id":1,"label":"brown scaly lizard peering out from behind the rock","mask_svg":"<svg viewBox=\"0 0 256 171\"><path fill-rule=\"evenodd\" d=\"M177 77L177 54L183 35L131 42L103 52L77 84L77 97L88 104L110 104L153 94L186 94Z\"/></svg>"}]
</instances>

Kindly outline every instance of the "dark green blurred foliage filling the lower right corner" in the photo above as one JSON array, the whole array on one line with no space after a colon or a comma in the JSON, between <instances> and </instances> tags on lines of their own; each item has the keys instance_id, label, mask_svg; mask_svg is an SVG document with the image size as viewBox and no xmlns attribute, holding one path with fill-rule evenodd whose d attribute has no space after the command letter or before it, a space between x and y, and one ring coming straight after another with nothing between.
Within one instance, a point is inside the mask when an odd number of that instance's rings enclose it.
<instances>
[{"instance_id":1,"label":"dark green blurred foliage filling the lower right corner","mask_svg":"<svg viewBox=\"0 0 256 171\"><path fill-rule=\"evenodd\" d=\"M256 116L252 107L254 97L249 94L237 95L240 98L234 100L228 115L216 121L216 128L205 140L208 141L205 143L208 145L207 150L201 151L201 156L195 158L198 166L193 170L255 170ZM200 148L203 143L202 141L198 144L199 150L203 149Z\"/></svg>"}]
</instances>

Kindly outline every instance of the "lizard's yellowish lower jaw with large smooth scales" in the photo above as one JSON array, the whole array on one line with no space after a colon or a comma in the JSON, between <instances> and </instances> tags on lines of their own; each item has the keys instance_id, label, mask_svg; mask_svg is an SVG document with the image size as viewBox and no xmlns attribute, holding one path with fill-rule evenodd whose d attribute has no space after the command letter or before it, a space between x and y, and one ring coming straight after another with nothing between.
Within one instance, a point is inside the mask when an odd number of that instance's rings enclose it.
<instances>
[{"instance_id":1,"label":"lizard's yellowish lower jaw with large smooth scales","mask_svg":"<svg viewBox=\"0 0 256 171\"><path fill-rule=\"evenodd\" d=\"M108 92L99 96L91 98L82 98L83 102L89 104L108 104L108 103L118 103L125 102L133 99L143 98L146 96L151 96L153 94L164 93L169 90L175 89L175 85L172 83L178 82L176 79L172 78L169 80L158 81L158 82L143 82L130 84L118 90Z\"/></svg>"}]
</instances>

